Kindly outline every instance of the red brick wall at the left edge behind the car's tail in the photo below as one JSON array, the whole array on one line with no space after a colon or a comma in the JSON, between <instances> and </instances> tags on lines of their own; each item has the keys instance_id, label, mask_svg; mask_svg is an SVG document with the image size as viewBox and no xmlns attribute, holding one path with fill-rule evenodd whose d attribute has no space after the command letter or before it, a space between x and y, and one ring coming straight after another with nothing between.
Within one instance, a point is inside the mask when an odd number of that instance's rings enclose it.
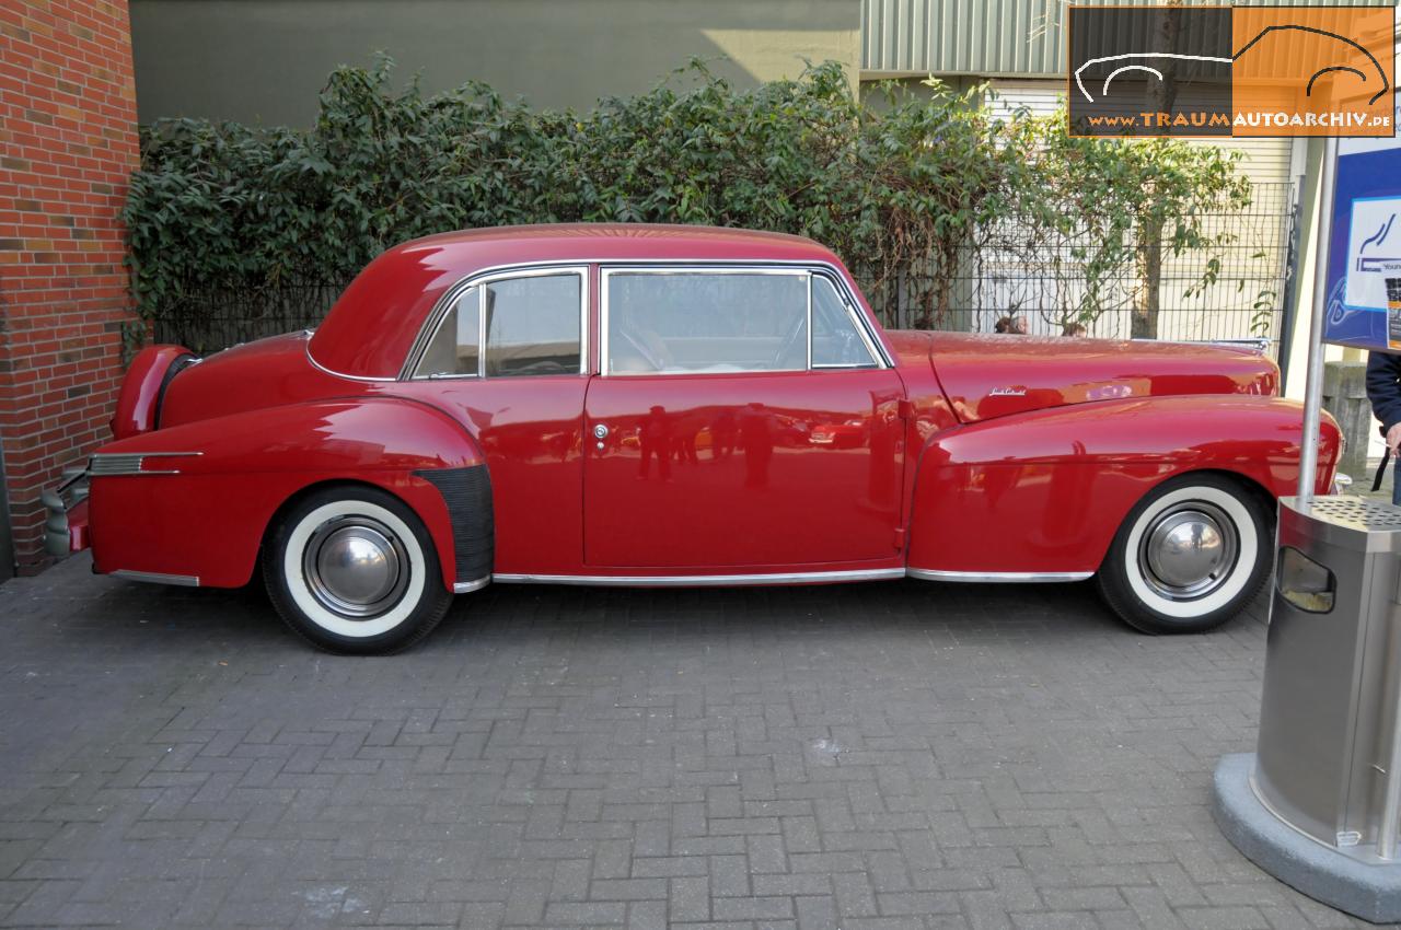
<instances>
[{"instance_id":1,"label":"red brick wall at the left edge behind the car's tail","mask_svg":"<svg viewBox=\"0 0 1401 930\"><path fill-rule=\"evenodd\" d=\"M45 563L39 490L111 436L137 160L126 0L0 3L0 447L21 571Z\"/></svg>"}]
</instances>

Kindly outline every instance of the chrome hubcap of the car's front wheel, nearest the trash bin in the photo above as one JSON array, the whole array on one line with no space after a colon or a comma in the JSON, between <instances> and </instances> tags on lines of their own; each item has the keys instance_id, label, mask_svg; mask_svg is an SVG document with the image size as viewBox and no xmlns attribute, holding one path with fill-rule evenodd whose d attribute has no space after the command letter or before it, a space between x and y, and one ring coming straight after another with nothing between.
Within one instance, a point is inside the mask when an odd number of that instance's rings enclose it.
<instances>
[{"instance_id":1,"label":"chrome hubcap of the car's front wheel, nearest the trash bin","mask_svg":"<svg viewBox=\"0 0 1401 930\"><path fill-rule=\"evenodd\" d=\"M1236 524L1213 504L1184 501L1154 517L1139 543L1139 571L1173 601L1215 591L1236 567Z\"/></svg>"}]
</instances>

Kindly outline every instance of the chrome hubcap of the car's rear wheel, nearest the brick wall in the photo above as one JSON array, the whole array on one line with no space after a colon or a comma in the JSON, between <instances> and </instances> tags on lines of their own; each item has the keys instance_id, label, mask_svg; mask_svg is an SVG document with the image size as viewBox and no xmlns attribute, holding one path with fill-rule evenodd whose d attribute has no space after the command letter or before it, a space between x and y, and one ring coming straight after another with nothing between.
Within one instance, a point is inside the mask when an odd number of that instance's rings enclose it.
<instances>
[{"instance_id":1,"label":"chrome hubcap of the car's rear wheel, nearest the brick wall","mask_svg":"<svg viewBox=\"0 0 1401 930\"><path fill-rule=\"evenodd\" d=\"M409 583L403 545L368 517L339 517L317 527L301 567L307 587L326 609L357 620L392 608Z\"/></svg>"}]
</instances>

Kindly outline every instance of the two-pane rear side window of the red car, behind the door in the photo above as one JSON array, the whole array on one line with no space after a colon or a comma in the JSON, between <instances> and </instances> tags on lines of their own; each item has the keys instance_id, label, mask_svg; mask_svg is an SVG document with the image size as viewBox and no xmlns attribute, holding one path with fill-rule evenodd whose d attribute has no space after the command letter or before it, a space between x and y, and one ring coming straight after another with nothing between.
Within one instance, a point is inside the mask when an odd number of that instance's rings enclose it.
<instances>
[{"instance_id":1,"label":"two-pane rear side window of the red car, behind the door","mask_svg":"<svg viewBox=\"0 0 1401 930\"><path fill-rule=\"evenodd\" d=\"M469 287L439 324L413 377L579 374L581 300L577 272Z\"/></svg>"}]
</instances>

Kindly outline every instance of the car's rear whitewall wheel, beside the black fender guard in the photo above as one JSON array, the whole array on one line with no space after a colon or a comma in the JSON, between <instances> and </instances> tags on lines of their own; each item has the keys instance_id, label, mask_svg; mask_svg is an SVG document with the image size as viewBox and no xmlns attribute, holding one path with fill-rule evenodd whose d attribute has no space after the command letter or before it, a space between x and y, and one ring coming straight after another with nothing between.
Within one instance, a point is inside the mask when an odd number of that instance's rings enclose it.
<instances>
[{"instance_id":1,"label":"car's rear whitewall wheel, beside the black fender guard","mask_svg":"<svg viewBox=\"0 0 1401 930\"><path fill-rule=\"evenodd\" d=\"M423 521L374 487L326 487L298 501L263 546L263 578L287 626L332 653L406 648L453 602Z\"/></svg>"}]
</instances>

